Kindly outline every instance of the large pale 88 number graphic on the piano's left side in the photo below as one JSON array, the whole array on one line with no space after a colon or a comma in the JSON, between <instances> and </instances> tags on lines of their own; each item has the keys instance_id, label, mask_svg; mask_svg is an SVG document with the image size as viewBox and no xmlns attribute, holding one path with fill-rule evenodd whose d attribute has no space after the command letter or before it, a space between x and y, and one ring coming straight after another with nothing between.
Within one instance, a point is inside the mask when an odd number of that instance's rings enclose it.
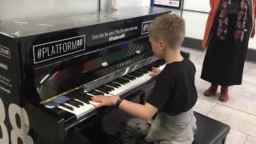
<instances>
[{"instance_id":1,"label":"large pale 88 number graphic on the piano's left side","mask_svg":"<svg viewBox=\"0 0 256 144\"><path fill-rule=\"evenodd\" d=\"M26 110L12 103L9 106L9 118L12 130L10 131L11 144L18 144L18 138L22 141L22 144L34 144L33 138L27 135L30 128L29 118L26 114ZM20 119L20 123L17 123L17 116ZM9 135L4 124L6 119L5 107L2 99L0 98L0 126L2 130L2 138L0 138L1 144L9 144Z\"/></svg>"}]
</instances>

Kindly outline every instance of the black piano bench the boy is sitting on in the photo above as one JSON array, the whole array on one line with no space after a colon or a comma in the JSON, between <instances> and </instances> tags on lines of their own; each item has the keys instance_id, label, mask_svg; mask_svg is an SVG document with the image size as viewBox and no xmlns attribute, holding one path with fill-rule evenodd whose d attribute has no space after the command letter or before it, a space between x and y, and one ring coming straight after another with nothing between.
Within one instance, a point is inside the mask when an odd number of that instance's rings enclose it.
<instances>
[{"instance_id":1,"label":"black piano bench the boy is sitting on","mask_svg":"<svg viewBox=\"0 0 256 144\"><path fill-rule=\"evenodd\" d=\"M197 119L198 131L194 135L193 144L225 144L226 136L230 133L230 126L197 112L194 112L194 116ZM138 138L135 144L151 143L145 142L144 138Z\"/></svg>"}]
</instances>

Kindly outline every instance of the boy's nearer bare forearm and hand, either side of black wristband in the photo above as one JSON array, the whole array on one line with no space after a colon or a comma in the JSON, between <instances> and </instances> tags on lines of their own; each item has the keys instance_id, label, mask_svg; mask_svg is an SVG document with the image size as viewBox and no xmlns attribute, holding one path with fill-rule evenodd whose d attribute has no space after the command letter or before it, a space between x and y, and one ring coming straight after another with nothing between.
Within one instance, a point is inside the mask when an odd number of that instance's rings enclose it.
<instances>
[{"instance_id":1,"label":"boy's nearer bare forearm and hand, either side of black wristband","mask_svg":"<svg viewBox=\"0 0 256 144\"><path fill-rule=\"evenodd\" d=\"M100 102L94 108L98 108L101 106L114 106L118 101L118 96L96 96L92 98L94 102ZM150 105L150 103L146 103L145 105L141 105L134 102L129 102L127 100L122 100L119 105L119 109L125 111L128 114L133 115L134 117L142 118L144 120L149 120L158 112L158 108Z\"/></svg>"}]
</instances>

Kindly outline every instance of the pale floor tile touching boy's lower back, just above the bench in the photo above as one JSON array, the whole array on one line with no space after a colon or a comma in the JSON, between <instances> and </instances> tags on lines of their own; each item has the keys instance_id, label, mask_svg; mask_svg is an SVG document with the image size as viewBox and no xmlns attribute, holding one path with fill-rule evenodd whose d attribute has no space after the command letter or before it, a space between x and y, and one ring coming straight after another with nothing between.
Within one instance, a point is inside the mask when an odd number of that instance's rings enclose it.
<instances>
[{"instance_id":1,"label":"pale floor tile touching boy's lower back, just above the bench","mask_svg":"<svg viewBox=\"0 0 256 144\"><path fill-rule=\"evenodd\" d=\"M198 102L194 106L194 111L206 115L216 106L217 103L210 102L202 98L198 98Z\"/></svg>"}]
</instances>

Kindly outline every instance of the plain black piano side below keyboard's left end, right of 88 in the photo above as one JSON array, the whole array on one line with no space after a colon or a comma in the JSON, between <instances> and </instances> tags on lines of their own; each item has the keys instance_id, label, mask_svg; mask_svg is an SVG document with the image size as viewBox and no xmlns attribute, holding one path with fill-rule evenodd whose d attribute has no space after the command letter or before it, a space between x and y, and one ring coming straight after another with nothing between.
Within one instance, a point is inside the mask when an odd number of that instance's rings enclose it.
<instances>
[{"instance_id":1,"label":"plain black piano side below keyboard's left end, right of 88","mask_svg":"<svg viewBox=\"0 0 256 144\"><path fill-rule=\"evenodd\" d=\"M25 106L30 122L30 135L34 144L58 144L64 142L64 118L54 117L50 110L26 103Z\"/></svg>"}]
</instances>

